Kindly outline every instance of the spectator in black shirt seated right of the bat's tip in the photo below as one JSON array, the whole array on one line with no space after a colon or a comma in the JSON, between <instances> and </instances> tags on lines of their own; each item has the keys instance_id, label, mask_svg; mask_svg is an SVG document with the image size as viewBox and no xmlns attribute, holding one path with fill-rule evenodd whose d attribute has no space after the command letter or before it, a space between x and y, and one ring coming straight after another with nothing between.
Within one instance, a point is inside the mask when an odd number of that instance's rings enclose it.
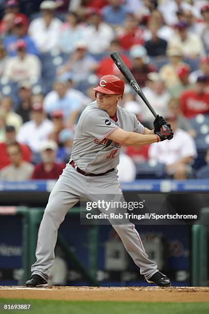
<instances>
[{"instance_id":1,"label":"spectator in black shirt seated right of the bat's tip","mask_svg":"<svg viewBox=\"0 0 209 314\"><path fill-rule=\"evenodd\" d=\"M165 56L167 41L160 38L158 35L158 25L156 23L149 23L148 28L151 33L150 40L145 42L145 48L148 56L159 57Z\"/></svg>"}]
</instances>

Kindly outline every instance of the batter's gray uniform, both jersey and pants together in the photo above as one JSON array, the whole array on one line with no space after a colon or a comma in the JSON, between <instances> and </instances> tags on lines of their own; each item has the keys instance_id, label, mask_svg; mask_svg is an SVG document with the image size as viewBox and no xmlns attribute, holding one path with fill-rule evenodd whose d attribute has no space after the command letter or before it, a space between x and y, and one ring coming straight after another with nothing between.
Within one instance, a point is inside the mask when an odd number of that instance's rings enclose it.
<instances>
[{"instance_id":1,"label":"batter's gray uniform, both jersey and pants together","mask_svg":"<svg viewBox=\"0 0 209 314\"><path fill-rule=\"evenodd\" d=\"M97 107L96 102L83 111L75 131L71 154L71 159L80 169L98 174L117 167L121 145L107 139L108 134L117 128L143 133L144 127L134 113L118 106L117 117L117 122L110 119L106 111ZM48 280L49 269L54 262L58 228L72 206L82 198L95 202L104 196L106 200L111 199L111 195L118 195L124 201L117 169L101 176L85 176L68 163L51 191L44 212L35 252L36 262L31 266L32 273ZM146 279L153 276L158 271L157 264L148 259L135 225L128 221L125 224L115 224L109 219L109 222L119 234L131 258L140 267L141 274Z\"/></svg>"}]
</instances>

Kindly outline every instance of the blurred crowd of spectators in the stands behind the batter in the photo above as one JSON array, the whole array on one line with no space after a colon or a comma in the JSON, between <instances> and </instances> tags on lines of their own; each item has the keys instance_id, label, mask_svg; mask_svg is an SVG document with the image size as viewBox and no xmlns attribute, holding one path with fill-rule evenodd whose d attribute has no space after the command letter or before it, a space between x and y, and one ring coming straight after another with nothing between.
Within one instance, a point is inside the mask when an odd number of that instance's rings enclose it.
<instances>
[{"instance_id":1,"label":"blurred crowd of spectators in the stands behind the batter","mask_svg":"<svg viewBox=\"0 0 209 314\"><path fill-rule=\"evenodd\" d=\"M120 179L143 169L156 178L158 165L162 178L209 178L208 1L4 0L0 16L0 180L59 178L92 87L105 74L124 79L115 50L175 131L172 141L125 147ZM127 82L119 105L153 128Z\"/></svg>"}]
</instances>

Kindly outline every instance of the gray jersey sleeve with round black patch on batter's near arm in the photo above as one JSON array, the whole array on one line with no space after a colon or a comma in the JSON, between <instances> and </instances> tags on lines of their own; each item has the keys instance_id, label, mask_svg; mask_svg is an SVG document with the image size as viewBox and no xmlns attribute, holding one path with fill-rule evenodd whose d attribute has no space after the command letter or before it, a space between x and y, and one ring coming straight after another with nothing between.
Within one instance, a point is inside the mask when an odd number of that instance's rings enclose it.
<instances>
[{"instance_id":1,"label":"gray jersey sleeve with round black patch on batter's near arm","mask_svg":"<svg viewBox=\"0 0 209 314\"><path fill-rule=\"evenodd\" d=\"M118 128L119 126L112 123L106 114L100 112L89 112L81 125L84 134L91 135L100 142Z\"/></svg>"}]
</instances>

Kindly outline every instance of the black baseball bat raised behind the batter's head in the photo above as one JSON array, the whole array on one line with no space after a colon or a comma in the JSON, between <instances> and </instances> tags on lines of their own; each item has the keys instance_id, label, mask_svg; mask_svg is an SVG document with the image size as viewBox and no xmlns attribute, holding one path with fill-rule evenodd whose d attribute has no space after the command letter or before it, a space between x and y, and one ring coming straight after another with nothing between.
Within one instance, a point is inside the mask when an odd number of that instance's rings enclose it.
<instances>
[{"instance_id":1,"label":"black baseball bat raised behind the batter's head","mask_svg":"<svg viewBox=\"0 0 209 314\"><path fill-rule=\"evenodd\" d=\"M134 90L137 92L137 94L141 97L141 99L143 100L143 102L147 105L147 107L149 108L149 110L151 111L151 113L153 113L153 115L156 117L157 113L155 112L155 110L153 109L153 107L150 105L150 103L148 102L146 96L144 95L143 91L141 90L139 84L137 83L134 75L130 72L130 70L128 69L128 67L126 66L126 64L124 63L124 61L122 60L120 54L118 53L118 51L113 51L110 54L113 62L115 62L115 64L117 65L117 67L119 68L119 70L121 71L121 73L123 74L123 76L126 78L126 80L128 81L128 83L130 84L130 86L132 88L134 88Z\"/></svg>"}]
</instances>

